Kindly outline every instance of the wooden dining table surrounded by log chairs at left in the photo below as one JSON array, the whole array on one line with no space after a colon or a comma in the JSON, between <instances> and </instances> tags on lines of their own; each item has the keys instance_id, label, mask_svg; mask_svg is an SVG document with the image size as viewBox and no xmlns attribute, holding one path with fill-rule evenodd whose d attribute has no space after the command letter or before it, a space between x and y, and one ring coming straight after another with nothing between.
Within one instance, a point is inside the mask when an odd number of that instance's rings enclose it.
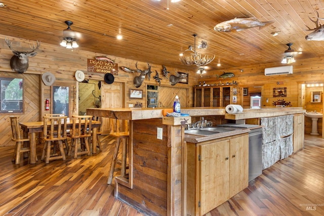
<instances>
[{"instance_id":1,"label":"wooden dining table surrounded by log chairs at left","mask_svg":"<svg viewBox=\"0 0 324 216\"><path fill-rule=\"evenodd\" d=\"M72 121L66 123L67 129L72 129ZM97 128L100 126L100 121L92 121L92 153L97 153ZM20 122L24 136L30 135L30 163L36 163L36 133L43 132L43 121Z\"/></svg>"}]
</instances>

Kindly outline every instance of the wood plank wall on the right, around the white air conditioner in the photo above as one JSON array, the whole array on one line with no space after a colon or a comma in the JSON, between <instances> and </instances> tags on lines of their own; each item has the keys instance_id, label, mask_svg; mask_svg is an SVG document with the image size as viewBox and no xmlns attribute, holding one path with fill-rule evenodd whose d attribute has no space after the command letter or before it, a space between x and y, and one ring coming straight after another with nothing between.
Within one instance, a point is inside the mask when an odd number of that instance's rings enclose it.
<instances>
[{"instance_id":1,"label":"wood plank wall on the right, around the white air conditioner","mask_svg":"<svg viewBox=\"0 0 324 216\"><path fill-rule=\"evenodd\" d=\"M303 54L307 55L307 54ZM323 58L311 58L306 61L296 59L293 64L293 74L283 74L274 76L265 76L264 68L287 66L281 63L272 63L265 65L251 65L247 67L232 68L225 70L225 72L233 73L235 76L222 79L217 79L216 74L223 74L223 70L208 71L203 77L197 77L201 83L206 81L208 84L232 82L237 81L239 88L237 88L238 103L242 106L249 107L249 103L245 103L239 97L242 96L242 89L248 88L249 92L253 92L255 87L262 92L262 106L274 107L272 104L278 99L284 99L286 102L290 102L292 107L302 107L307 110L316 110L320 112L323 109L323 103L309 103L310 96L308 94L310 90L308 88L301 88L301 84L307 83L324 83L324 59ZM243 70L243 72L240 72ZM273 88L287 88L287 97L273 97ZM323 92L323 88L321 88ZM309 97L309 99L308 99ZM268 99L268 102L266 101ZM249 100L249 98L248 98ZM324 110L324 109L323 109ZM318 121L318 131L322 131L322 119ZM305 118L305 133L311 132L311 120Z\"/></svg>"}]
</instances>

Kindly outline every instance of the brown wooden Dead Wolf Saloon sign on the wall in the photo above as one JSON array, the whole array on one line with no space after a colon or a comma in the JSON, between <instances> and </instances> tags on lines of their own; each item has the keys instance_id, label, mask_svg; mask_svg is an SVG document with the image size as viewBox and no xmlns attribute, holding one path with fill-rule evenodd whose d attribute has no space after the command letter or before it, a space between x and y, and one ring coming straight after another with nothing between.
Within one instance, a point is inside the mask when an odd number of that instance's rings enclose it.
<instances>
[{"instance_id":1,"label":"brown wooden Dead Wolf Saloon sign on the wall","mask_svg":"<svg viewBox=\"0 0 324 216\"><path fill-rule=\"evenodd\" d=\"M96 59L88 59L88 72L93 73L111 73L118 75L118 64L108 61L98 61Z\"/></svg>"}]
</instances>

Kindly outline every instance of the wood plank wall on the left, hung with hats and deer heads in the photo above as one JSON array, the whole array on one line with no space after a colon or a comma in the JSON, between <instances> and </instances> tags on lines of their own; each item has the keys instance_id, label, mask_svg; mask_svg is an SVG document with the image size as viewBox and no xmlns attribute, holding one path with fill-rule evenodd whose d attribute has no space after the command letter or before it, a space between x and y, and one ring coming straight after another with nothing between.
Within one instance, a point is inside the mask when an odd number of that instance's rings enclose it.
<instances>
[{"instance_id":1,"label":"wood plank wall on the left, hung with hats and deer heads","mask_svg":"<svg viewBox=\"0 0 324 216\"><path fill-rule=\"evenodd\" d=\"M32 44L35 41L29 41L23 38L9 37L13 42L13 49L23 50L19 48L29 48L29 44ZM49 45L42 43L41 47L37 50L37 55L35 57L29 58L29 68L23 74L18 74L10 68L10 59L13 56L12 51L8 48L5 42L5 35L0 34L0 77L23 77L25 88L24 88L24 113L19 114L22 121L37 121L41 120L42 116L50 111L45 111L45 100L46 98L51 98L51 87L44 85L42 81L42 74L45 72L51 72L55 75L56 81L54 85L64 85L70 87L70 110L69 115L73 113L78 113L78 82L74 78L74 73L76 70L87 71L87 59L94 59L95 56L107 55L109 58L114 60L118 67L125 66L129 68L135 68L136 61L125 58L116 58L106 54L92 53L87 51L81 51L79 49L73 49L73 51L67 50L59 46ZM138 62L138 68L145 69L147 68L146 62ZM193 105L193 93L191 92L190 87L195 85L196 75L195 72L189 74L188 84L177 83L174 86L171 86L169 79L163 77L162 74L162 65L152 65L151 70L152 74L155 75L155 70L159 72L161 78L161 87L169 88L169 93L179 92L179 90L185 91L189 97L186 97L186 100L181 100L183 107L189 107ZM175 74L178 69L168 68L170 74ZM190 72L190 71L182 71ZM143 81L139 90L143 90L143 99L134 100L129 98L129 89L135 89L133 84L133 79L135 76L138 76L138 73L127 73L121 69L118 71L118 75L114 75L114 82L122 82L125 86L124 100L122 104L125 104L126 107L129 104L135 104L136 101L139 101L143 104L143 107L146 107L146 86L149 85L158 85L158 83L151 77L150 80L147 78ZM103 80L103 75L92 75L89 77L86 74L86 79L91 80L101 80L102 84L107 85ZM181 93L182 94L182 93ZM161 101L172 101L174 96L170 94L160 94L159 99ZM51 105L51 104L50 104ZM161 106L166 108L171 108L170 104L162 104ZM11 141L11 129L9 116L7 114L0 114L0 146L14 145L14 142Z\"/></svg>"}]
</instances>

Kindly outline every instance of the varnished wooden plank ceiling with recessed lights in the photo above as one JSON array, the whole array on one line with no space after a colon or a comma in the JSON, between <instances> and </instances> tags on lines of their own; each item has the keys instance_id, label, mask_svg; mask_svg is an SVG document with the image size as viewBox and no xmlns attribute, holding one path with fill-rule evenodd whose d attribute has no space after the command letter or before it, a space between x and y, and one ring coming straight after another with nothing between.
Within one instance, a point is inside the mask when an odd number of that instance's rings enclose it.
<instances>
[{"instance_id":1,"label":"varnished wooden plank ceiling with recessed lights","mask_svg":"<svg viewBox=\"0 0 324 216\"><path fill-rule=\"evenodd\" d=\"M208 48L202 54L216 55L211 69L277 63L288 49L301 50L295 59L324 56L324 41L307 41L309 19L324 17L322 0L0 0L0 34L58 45L64 21L82 36L80 50L108 56L166 65L182 70L196 70L180 62L179 54L201 40ZM169 5L169 10L167 6ZM233 18L256 17L274 21L262 29L250 28L236 33L216 32L214 26ZM324 23L324 21L321 21ZM271 32L280 32L272 36ZM118 34L123 39L117 40ZM15 45L15 41L13 47ZM8 48L9 49L9 48ZM19 49L19 48L17 48ZM41 48L42 49L42 46ZM64 48L60 48L64 49ZM113 58L112 58L113 59ZM221 63L217 67L217 63Z\"/></svg>"}]
</instances>

